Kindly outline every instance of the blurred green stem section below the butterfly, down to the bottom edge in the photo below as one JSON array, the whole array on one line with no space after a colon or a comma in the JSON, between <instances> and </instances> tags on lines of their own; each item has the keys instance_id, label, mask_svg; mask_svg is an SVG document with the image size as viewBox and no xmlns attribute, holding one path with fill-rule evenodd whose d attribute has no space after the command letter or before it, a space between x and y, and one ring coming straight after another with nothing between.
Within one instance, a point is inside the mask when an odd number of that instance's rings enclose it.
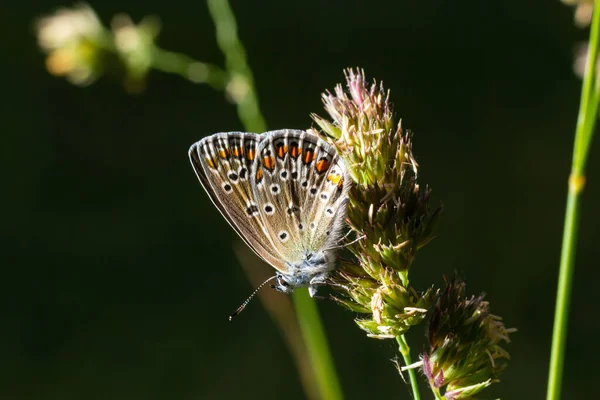
<instances>
[{"instance_id":1,"label":"blurred green stem section below the butterfly, down to the bottom edge","mask_svg":"<svg viewBox=\"0 0 600 400\"><path fill-rule=\"evenodd\" d=\"M319 317L319 310L315 300L308 295L308 290L296 289L292 294L298 322L308 348L308 357L311 360L321 398L324 400L343 399L333 357L327 344L327 336Z\"/></svg>"}]
</instances>

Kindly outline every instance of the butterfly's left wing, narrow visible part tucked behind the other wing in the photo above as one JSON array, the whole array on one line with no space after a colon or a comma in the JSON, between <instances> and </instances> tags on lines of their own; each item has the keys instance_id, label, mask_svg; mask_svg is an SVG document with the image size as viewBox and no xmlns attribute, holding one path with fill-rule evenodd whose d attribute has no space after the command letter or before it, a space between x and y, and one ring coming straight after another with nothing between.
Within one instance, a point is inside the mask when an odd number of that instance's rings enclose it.
<instances>
[{"instance_id":1,"label":"butterfly's left wing, narrow visible part tucked behind the other wing","mask_svg":"<svg viewBox=\"0 0 600 400\"><path fill-rule=\"evenodd\" d=\"M250 185L260 138L253 133L217 133L194 143L189 156L200 183L227 222L259 257L286 273L272 250Z\"/></svg>"}]
</instances>

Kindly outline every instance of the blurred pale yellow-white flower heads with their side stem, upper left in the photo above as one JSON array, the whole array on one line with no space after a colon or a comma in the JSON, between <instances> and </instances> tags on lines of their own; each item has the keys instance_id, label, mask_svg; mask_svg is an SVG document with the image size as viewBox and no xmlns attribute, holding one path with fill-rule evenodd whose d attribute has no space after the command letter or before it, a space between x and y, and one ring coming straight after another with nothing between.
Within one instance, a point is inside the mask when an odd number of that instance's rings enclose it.
<instances>
[{"instance_id":1,"label":"blurred pale yellow-white flower heads with their side stem, upper left","mask_svg":"<svg viewBox=\"0 0 600 400\"><path fill-rule=\"evenodd\" d=\"M139 93L154 68L225 89L229 75L221 68L159 48L156 38L160 28L157 17L147 16L136 24L121 13L112 18L109 29L87 4L60 8L35 22L48 72L73 84L88 85L106 74L121 79L126 91ZM227 96L239 103L251 90L249 85L245 77L235 79L227 88Z\"/></svg>"}]
</instances>

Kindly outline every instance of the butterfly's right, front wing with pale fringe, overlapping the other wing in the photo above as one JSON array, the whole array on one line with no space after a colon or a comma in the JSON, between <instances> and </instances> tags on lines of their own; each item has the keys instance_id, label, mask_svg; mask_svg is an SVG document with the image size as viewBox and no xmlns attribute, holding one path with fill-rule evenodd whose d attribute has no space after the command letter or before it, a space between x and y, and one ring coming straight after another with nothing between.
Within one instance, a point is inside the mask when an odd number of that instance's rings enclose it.
<instances>
[{"instance_id":1,"label":"butterfly's right, front wing with pale fringe, overlapping the other wing","mask_svg":"<svg viewBox=\"0 0 600 400\"><path fill-rule=\"evenodd\" d=\"M335 149L304 131L263 134L258 144L254 196L278 256L301 264L307 253L337 243L350 179ZM262 135L261 135L262 136Z\"/></svg>"}]
</instances>

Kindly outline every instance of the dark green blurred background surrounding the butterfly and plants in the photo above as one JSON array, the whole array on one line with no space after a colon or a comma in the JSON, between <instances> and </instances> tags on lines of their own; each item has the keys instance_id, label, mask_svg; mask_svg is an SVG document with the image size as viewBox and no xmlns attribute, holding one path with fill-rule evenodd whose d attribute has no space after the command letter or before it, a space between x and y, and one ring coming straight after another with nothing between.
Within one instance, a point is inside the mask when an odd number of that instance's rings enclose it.
<instances>
[{"instance_id":1,"label":"dark green blurred background surrounding the butterfly and plants","mask_svg":"<svg viewBox=\"0 0 600 400\"><path fill-rule=\"evenodd\" d=\"M55 1L3 15L1 399L301 399L278 331L231 251L235 233L187 158L205 135L242 129L222 93L162 73L130 96L102 79L50 76L32 21ZM222 65L206 5L91 3L161 17L158 43ZM573 10L559 1L234 1L269 128L306 128L320 93L363 67L415 132L421 183L443 202L414 283L462 271L469 293L517 327L503 382L484 398L542 399L580 81ZM564 394L598 372L600 209L591 151ZM283 295L282 295L283 296ZM408 398L354 315L320 303L348 399ZM424 339L422 329L410 337ZM416 351L419 350L418 346ZM425 398L429 398L425 394Z\"/></svg>"}]
</instances>

